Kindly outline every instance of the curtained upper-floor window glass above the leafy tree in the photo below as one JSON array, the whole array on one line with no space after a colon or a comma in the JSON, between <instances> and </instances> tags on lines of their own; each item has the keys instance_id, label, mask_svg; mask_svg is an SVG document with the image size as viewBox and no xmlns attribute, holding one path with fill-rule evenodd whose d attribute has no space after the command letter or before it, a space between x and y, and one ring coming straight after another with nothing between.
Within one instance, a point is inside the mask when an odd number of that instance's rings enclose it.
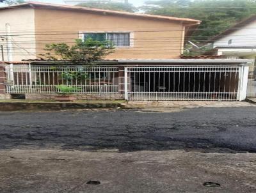
<instances>
[{"instance_id":1,"label":"curtained upper-floor window glass above the leafy tree","mask_svg":"<svg viewBox=\"0 0 256 193\"><path fill-rule=\"evenodd\" d=\"M116 47L130 46L130 33L84 33L83 39L88 38L97 41L109 40Z\"/></svg>"}]
</instances>

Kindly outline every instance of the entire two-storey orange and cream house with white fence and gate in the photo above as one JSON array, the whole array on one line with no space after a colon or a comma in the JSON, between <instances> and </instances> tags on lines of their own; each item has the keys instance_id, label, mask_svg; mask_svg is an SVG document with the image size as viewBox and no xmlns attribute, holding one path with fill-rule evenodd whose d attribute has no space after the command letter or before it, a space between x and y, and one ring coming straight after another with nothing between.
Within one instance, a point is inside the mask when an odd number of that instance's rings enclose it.
<instances>
[{"instance_id":1,"label":"entire two-storey orange and cream house with white fence and gate","mask_svg":"<svg viewBox=\"0 0 256 193\"><path fill-rule=\"evenodd\" d=\"M0 98L52 98L60 92L56 86L67 84L83 99L244 100L251 60L181 56L198 24L47 3L0 8L4 58L6 48L11 53L0 64ZM40 59L45 43L72 44L77 38L111 40L116 49L93 67Z\"/></svg>"}]
</instances>

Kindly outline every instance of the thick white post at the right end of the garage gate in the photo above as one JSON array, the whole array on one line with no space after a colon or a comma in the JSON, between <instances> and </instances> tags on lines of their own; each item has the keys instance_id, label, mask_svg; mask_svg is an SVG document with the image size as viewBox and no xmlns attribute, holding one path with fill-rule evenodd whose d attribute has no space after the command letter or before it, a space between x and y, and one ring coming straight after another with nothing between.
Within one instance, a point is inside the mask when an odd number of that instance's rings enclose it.
<instances>
[{"instance_id":1,"label":"thick white post at the right end of the garage gate","mask_svg":"<svg viewBox=\"0 0 256 193\"><path fill-rule=\"evenodd\" d=\"M248 84L249 66L239 66L239 82L237 91L237 100L242 101L246 98Z\"/></svg>"}]
</instances>

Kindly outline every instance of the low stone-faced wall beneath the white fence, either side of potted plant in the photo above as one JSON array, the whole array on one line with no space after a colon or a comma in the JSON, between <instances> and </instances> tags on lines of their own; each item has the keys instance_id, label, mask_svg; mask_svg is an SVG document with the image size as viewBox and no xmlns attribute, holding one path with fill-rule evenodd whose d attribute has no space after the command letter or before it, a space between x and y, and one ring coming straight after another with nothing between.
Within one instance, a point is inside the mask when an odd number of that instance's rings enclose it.
<instances>
[{"instance_id":1,"label":"low stone-faced wall beneath the white fence, either side of potted plant","mask_svg":"<svg viewBox=\"0 0 256 193\"><path fill-rule=\"evenodd\" d=\"M54 99L57 94L26 94L28 100ZM76 94L72 95L77 100L122 100L123 96L118 93L113 94Z\"/></svg>"}]
</instances>

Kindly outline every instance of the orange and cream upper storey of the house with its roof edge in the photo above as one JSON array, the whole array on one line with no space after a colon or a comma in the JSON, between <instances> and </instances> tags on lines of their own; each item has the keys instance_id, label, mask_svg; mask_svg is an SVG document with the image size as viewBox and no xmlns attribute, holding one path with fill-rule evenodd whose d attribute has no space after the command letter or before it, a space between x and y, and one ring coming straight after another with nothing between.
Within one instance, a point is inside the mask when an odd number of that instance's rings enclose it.
<instances>
[{"instance_id":1,"label":"orange and cream upper storey of the house with its roof edge","mask_svg":"<svg viewBox=\"0 0 256 193\"><path fill-rule=\"evenodd\" d=\"M28 2L0 8L2 35L6 23L11 28L13 61L20 61L38 58L45 43L72 43L88 37L113 40L115 53L106 59L179 58L184 36L200 21Z\"/></svg>"}]
</instances>

